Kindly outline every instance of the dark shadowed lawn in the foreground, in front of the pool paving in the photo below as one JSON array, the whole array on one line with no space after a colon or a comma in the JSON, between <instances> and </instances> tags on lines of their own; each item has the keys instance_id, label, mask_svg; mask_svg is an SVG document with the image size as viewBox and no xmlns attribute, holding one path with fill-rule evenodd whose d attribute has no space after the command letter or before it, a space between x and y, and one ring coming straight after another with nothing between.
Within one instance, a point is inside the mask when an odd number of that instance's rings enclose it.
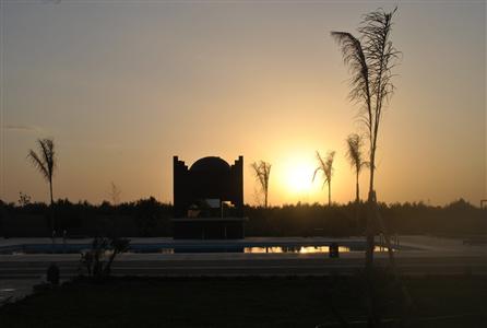
<instances>
[{"instance_id":1,"label":"dark shadowed lawn in the foreground, in front of the pool paving","mask_svg":"<svg viewBox=\"0 0 487 328\"><path fill-rule=\"evenodd\" d=\"M76 281L0 308L0 327L365 327L359 278L119 278ZM406 327L487 327L485 277L407 278ZM381 286L388 285L387 282ZM397 316L394 289L381 313ZM334 314L335 313L335 314ZM325 326L338 327L338 326Z\"/></svg>"}]
</instances>

